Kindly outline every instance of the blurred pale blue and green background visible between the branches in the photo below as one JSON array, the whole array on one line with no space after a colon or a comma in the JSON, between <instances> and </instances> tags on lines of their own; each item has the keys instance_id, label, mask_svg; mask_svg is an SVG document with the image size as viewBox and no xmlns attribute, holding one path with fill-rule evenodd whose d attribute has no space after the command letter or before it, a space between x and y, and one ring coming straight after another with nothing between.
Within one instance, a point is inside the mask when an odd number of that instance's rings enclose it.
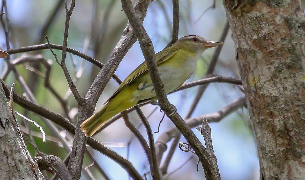
<instances>
[{"instance_id":1,"label":"blurred pale blue and green background visible between the branches","mask_svg":"<svg viewBox=\"0 0 305 180\"><path fill-rule=\"evenodd\" d=\"M134 2L134 1L133 1ZM225 10L221 0L216 0L215 8L211 8L214 1L199 1L186 0L179 1L180 10L180 29L179 38L185 35L200 35L205 39L218 41L226 23ZM0 2L3 5L3 2ZM47 31L43 31L45 23L53 13L56 6L59 5L58 11L54 20ZM68 3L70 7L70 2ZM121 2L118 0L83 0L76 1L76 7L73 10L70 20L68 47L79 50L94 57L98 61L104 63L114 46L120 39L121 33L126 27L127 18L124 11L121 11ZM3 12L3 11L2 11ZM59 1L48 0L9 0L7 1L7 9L4 11L9 19L9 40L10 48L19 48L24 46L31 46L41 43L46 43L44 38L48 36L50 43L63 44L63 31L65 24L65 7L64 3ZM3 17L4 18L4 17ZM143 25L151 38L155 51L162 50L171 39L172 33L172 18L173 9L171 0L156 0L149 4L147 15ZM0 27L0 48L6 50L5 33L3 25ZM231 31L229 31L225 39L215 74L239 78L238 67L235 61L234 44L231 40ZM84 48L88 44L88 48ZM84 51L85 49L85 51ZM201 79L213 55L215 48L206 50L202 58L199 59L196 72L187 81ZM61 57L61 51L54 50L58 58ZM51 84L54 89L65 97L69 87L64 78L62 69L56 64L55 58L49 50L41 50L30 52L29 54L41 54L45 59L53 61L51 70ZM22 54L11 55L11 60L20 57ZM115 72L120 79L124 80L139 64L144 61L141 49L138 42L136 42L128 51L123 61L120 63ZM67 67L72 76L76 75L76 70L82 67L82 59L80 57L67 53ZM47 90L43 85L43 79L37 76L37 73L32 73L29 69L30 64L18 65L17 70L20 75L26 80L30 86L38 104L46 107L52 112L64 115L63 108L59 101ZM0 74L6 67L5 61L0 61ZM43 67L36 67L36 70L44 73ZM84 97L99 72L99 68L93 66L91 63L84 62L84 71L77 81L77 89L81 96ZM240 79L240 78L239 78ZM10 73L5 82L11 86L15 82L13 73ZM118 84L111 79L106 89L99 98L96 105L96 111L103 106L103 103L113 94L118 87ZM178 113L184 117L188 112L188 108L193 101L198 87L189 88L187 90L179 91L168 96L169 101L178 109ZM23 91L20 85L15 85L16 93L22 95ZM197 106L192 117L201 116L208 113L218 111L231 101L244 94L238 87L225 83L212 83L208 86L199 105ZM70 96L68 104L72 114L73 123L77 118L77 103ZM58 139L54 137L48 127L33 113L26 112L23 108L15 105L16 111L26 114L27 117L39 123L45 130L49 138L46 143L42 143L41 138L34 137L38 149L45 154L52 154L64 159L67 156L67 151L59 143ZM145 105L142 110L146 117L152 112L152 116L148 118L152 131L157 131L158 124L163 116L156 106ZM76 113L75 113L76 112ZM136 113L129 114L131 121L138 127L141 120ZM20 119L20 127L23 127L23 122ZM170 119L165 118L161 124L160 132L154 133L156 140L162 132L170 127L173 127ZM31 125L32 134L35 132L39 134L38 128ZM255 140L253 138L251 126L249 123L249 115L246 108L241 108L238 111L226 116L219 123L210 123L212 129L212 141L217 157L217 162L223 180L257 180L259 179L259 162L257 158L257 150ZM139 131L146 137L146 130L140 127ZM203 142L202 135L196 128L193 129L197 137ZM65 136L65 131L62 131L62 136ZM67 135L68 136L68 135ZM101 133L95 136L96 139L108 145L121 156L128 158L141 175L149 174L149 164L145 153L137 139L132 138L132 133L125 127L122 119L107 127ZM67 138L68 139L68 138ZM181 142L186 142L181 138ZM70 142L72 145L72 142ZM52 148L50 148L52 147ZM168 144L170 147L170 144ZM35 155L34 149L28 146L32 156ZM93 155L98 160L99 165L104 169L110 179L128 179L128 175L117 163L102 155L99 152L92 150ZM166 155L166 153L165 153ZM193 157L192 157L193 156ZM192 157L190 159L190 157ZM190 160L189 160L190 159ZM167 179L202 179L203 170L199 165L197 172L198 158L191 152L183 152L178 147L175 151L173 160L169 165ZM92 162L89 158L84 161L84 167L90 165ZM182 166L182 167L181 167ZM91 167L91 172L96 179L103 179L100 173ZM148 177L150 179L151 177ZM81 179L90 179L82 174Z\"/></svg>"}]
</instances>

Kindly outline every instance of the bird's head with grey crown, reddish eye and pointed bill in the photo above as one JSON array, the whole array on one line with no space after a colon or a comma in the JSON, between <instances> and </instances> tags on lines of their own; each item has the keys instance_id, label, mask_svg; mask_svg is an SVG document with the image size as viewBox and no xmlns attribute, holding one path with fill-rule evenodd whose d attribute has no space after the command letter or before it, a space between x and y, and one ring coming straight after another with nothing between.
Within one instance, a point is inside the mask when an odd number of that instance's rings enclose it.
<instances>
[{"instance_id":1,"label":"bird's head with grey crown, reddish eye and pointed bill","mask_svg":"<svg viewBox=\"0 0 305 180\"><path fill-rule=\"evenodd\" d=\"M223 42L207 41L197 35L188 35L178 39L172 46L184 48L190 52L203 53L208 48L224 45Z\"/></svg>"}]
</instances>

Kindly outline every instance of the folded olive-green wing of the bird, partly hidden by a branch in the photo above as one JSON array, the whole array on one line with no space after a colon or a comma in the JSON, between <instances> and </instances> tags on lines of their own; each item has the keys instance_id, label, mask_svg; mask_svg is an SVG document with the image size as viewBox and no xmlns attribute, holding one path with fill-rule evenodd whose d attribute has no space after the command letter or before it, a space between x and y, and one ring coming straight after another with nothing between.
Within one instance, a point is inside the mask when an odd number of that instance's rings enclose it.
<instances>
[{"instance_id":1,"label":"folded olive-green wing of the bird, partly hidden by a branch","mask_svg":"<svg viewBox=\"0 0 305 180\"><path fill-rule=\"evenodd\" d=\"M175 53L178 52L178 48L174 48L171 50L171 52L166 52L164 50L160 51L159 53L156 53L156 62L157 65L163 63L164 61L167 61L170 57L174 56ZM147 65L146 62L143 62L136 68L133 72L131 72L130 75L127 76L127 78L120 84L120 86L117 88L117 90L112 94L112 96L104 103L111 101L126 85L132 83L135 79L137 79L139 76L147 72Z\"/></svg>"}]
</instances>

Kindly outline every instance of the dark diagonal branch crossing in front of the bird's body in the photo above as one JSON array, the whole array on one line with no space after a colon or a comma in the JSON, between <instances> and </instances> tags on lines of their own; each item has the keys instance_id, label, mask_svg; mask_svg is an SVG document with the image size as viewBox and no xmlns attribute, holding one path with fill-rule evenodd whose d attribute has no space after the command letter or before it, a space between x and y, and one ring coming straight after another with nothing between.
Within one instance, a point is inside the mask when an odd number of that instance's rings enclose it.
<instances>
[{"instance_id":1,"label":"dark diagonal branch crossing in front of the bird's body","mask_svg":"<svg viewBox=\"0 0 305 180\"><path fill-rule=\"evenodd\" d=\"M132 3L130 0L121 0L122 7L126 16L128 17L132 27L134 28L135 34L138 37L143 55L145 57L145 61L148 67L149 75L152 79L152 83L154 85L156 96L159 100L159 104L161 109L169 116L174 109L173 105L168 101L166 94L164 92L164 84L161 81L157 64L156 57L154 53L154 49L152 46L152 42L149 39L142 23L135 14L135 10L132 7ZM203 147L199 139L196 137L194 132L188 127L188 125L183 121L178 113L170 116L170 119L173 121L175 126L181 131L184 135L185 139L191 145L191 147L195 150L199 160L201 161L205 174L207 178L216 179L216 172L213 167L212 159L206 149Z\"/></svg>"}]
</instances>

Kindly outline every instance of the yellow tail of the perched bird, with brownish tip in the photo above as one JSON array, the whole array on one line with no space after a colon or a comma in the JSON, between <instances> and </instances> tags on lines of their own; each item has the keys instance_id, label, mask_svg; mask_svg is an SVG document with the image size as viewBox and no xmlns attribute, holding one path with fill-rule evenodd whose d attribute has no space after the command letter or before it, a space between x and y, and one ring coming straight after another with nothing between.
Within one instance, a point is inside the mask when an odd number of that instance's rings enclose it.
<instances>
[{"instance_id":1,"label":"yellow tail of the perched bird, with brownish tip","mask_svg":"<svg viewBox=\"0 0 305 180\"><path fill-rule=\"evenodd\" d=\"M85 132L85 136L92 136L110 118L137 104L137 102L130 102L130 96L122 97L122 95L124 94L118 94L97 113L81 123L81 130Z\"/></svg>"}]
</instances>

